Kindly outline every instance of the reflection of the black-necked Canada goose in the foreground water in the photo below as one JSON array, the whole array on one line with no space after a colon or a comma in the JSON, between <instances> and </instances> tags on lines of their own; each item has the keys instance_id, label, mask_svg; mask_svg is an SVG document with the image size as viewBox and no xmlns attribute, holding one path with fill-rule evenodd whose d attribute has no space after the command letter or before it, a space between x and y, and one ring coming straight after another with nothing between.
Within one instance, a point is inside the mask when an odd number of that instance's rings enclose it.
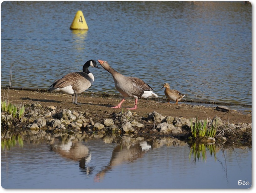
<instances>
[{"instance_id":1,"label":"reflection of the black-necked Canada goose in the foreground water","mask_svg":"<svg viewBox=\"0 0 256 193\"><path fill-rule=\"evenodd\" d=\"M64 157L68 160L78 161L79 167L82 172L85 172L86 175L90 174L94 167L87 167L91 161L91 152L89 148L80 142L69 141L67 143L59 143L51 145L51 150L58 153L61 157Z\"/></svg>"}]
</instances>

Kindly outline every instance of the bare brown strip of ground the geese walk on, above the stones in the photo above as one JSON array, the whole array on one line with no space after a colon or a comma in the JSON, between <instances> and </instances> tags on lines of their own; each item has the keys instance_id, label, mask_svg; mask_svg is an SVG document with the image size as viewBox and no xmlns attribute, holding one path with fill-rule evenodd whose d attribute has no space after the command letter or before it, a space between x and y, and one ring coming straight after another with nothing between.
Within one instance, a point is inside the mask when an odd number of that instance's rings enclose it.
<instances>
[{"instance_id":1,"label":"bare brown strip of ground the geese walk on, above the stones","mask_svg":"<svg viewBox=\"0 0 256 193\"><path fill-rule=\"evenodd\" d=\"M3 96L6 98L8 92L7 89L1 89L1 99ZM88 95L89 94L89 95ZM82 93L78 95L78 105L72 104L71 95L62 94L59 92L38 92L34 90L17 90L10 89L8 99L13 104L27 104L39 102L43 106L56 106L62 109L70 110L86 110L90 113L97 113L97 116L104 116L105 114L111 114L113 112L127 111L128 107L133 107L134 99L128 98L123 103L123 109L113 109L111 106L117 105L122 98L119 95L110 95L103 93L98 94L101 96L90 96L90 93ZM222 121L229 123L252 123L252 116L250 112L244 114L236 110L230 110L229 112L222 112L216 110L216 106L207 107L207 105L199 104L192 105L189 103L175 102L167 104L165 101L159 101L156 99L139 99L138 109L133 110L139 116L145 116L148 113L156 111L163 116L183 117L190 119L198 117L198 119L212 119L215 115L220 117Z\"/></svg>"}]
</instances>

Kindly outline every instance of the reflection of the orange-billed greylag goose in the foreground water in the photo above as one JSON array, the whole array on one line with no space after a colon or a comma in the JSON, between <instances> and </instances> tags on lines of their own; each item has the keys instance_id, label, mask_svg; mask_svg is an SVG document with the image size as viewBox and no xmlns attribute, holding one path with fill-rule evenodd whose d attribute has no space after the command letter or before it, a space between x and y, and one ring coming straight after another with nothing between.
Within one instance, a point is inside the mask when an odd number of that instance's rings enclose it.
<instances>
[{"instance_id":1,"label":"reflection of the orange-billed greylag goose in the foreground water","mask_svg":"<svg viewBox=\"0 0 256 193\"><path fill-rule=\"evenodd\" d=\"M134 160L143 157L143 155L151 149L151 145L147 144L147 141L141 141L132 145L118 145L112 152L112 157L107 166L105 166L100 172L94 177L95 182L100 182L106 175L106 173L117 165L129 162L132 163Z\"/></svg>"}]
</instances>

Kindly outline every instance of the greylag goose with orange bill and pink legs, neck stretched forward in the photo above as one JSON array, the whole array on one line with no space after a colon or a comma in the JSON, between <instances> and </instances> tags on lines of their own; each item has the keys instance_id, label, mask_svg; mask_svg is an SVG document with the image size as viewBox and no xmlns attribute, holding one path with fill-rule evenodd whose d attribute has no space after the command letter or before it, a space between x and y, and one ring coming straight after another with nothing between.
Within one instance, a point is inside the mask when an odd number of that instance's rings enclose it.
<instances>
[{"instance_id":1,"label":"greylag goose with orange bill and pink legs, neck stretched forward","mask_svg":"<svg viewBox=\"0 0 256 193\"><path fill-rule=\"evenodd\" d=\"M112 69L107 61L98 60L101 66L112 74L115 82L115 87L119 93L123 95L123 100L115 107L111 108L120 108L121 104L124 102L126 97L134 97L135 105L133 108L128 108L131 110L137 109L138 97L147 98L147 97L158 97L157 94L153 92L153 89L146 84L143 80L135 77L126 77L116 70Z\"/></svg>"}]
</instances>

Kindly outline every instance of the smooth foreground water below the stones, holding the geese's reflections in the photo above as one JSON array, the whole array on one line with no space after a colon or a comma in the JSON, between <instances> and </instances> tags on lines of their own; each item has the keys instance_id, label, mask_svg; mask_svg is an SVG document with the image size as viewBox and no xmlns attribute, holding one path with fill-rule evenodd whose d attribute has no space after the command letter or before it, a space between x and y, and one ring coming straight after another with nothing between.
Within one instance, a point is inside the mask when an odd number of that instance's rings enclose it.
<instances>
[{"instance_id":1,"label":"smooth foreground water below the stones, holding the geese's reflections","mask_svg":"<svg viewBox=\"0 0 256 193\"><path fill-rule=\"evenodd\" d=\"M213 151L205 146L193 153L175 138L78 140L45 135L39 140L31 134L10 148L2 145L3 188L245 189L252 185L252 151L246 146L213 145Z\"/></svg>"}]
</instances>

